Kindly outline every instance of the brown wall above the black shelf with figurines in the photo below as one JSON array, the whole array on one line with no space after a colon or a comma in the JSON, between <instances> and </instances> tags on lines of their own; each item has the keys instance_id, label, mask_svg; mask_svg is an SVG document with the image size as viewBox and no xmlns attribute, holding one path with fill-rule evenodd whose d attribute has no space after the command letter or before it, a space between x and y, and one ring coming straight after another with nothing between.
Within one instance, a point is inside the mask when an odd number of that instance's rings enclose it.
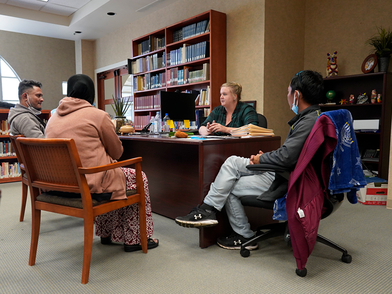
<instances>
[{"instance_id":1,"label":"brown wall above the black shelf with figurines","mask_svg":"<svg viewBox=\"0 0 392 294\"><path fill-rule=\"evenodd\" d=\"M306 0L304 67L326 75L327 53L338 51L339 75L361 74L377 26L392 28L392 1ZM390 65L389 70L392 70Z\"/></svg>"}]
</instances>

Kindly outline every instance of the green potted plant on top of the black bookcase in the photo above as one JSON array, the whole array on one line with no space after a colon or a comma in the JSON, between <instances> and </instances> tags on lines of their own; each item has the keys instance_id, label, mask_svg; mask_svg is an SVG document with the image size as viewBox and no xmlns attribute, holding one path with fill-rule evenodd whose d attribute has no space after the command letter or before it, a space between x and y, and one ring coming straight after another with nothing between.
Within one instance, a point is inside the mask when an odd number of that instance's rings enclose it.
<instances>
[{"instance_id":1,"label":"green potted plant on top of the black bookcase","mask_svg":"<svg viewBox=\"0 0 392 294\"><path fill-rule=\"evenodd\" d=\"M370 39L366 41L366 44L374 47L371 51L377 55L378 59L378 71L387 72L389 66L389 60L392 53L392 32L388 31L381 26L377 27L377 33L375 33Z\"/></svg>"}]
</instances>

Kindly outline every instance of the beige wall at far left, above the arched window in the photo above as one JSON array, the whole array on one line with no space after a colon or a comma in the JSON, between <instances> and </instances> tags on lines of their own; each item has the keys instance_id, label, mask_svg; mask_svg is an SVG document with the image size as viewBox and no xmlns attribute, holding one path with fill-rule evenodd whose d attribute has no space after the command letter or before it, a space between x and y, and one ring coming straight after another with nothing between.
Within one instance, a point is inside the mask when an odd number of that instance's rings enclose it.
<instances>
[{"instance_id":1,"label":"beige wall at far left, above the arched window","mask_svg":"<svg viewBox=\"0 0 392 294\"><path fill-rule=\"evenodd\" d=\"M0 30L0 55L21 79L42 82L43 109L58 106L61 82L75 74L74 41Z\"/></svg>"}]
</instances>

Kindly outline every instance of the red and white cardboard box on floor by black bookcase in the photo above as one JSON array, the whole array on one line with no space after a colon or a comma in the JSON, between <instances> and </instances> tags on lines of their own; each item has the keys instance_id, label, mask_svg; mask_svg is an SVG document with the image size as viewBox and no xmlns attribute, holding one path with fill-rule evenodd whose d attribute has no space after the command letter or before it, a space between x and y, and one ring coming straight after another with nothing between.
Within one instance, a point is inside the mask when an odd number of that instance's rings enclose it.
<instances>
[{"instance_id":1,"label":"red and white cardboard box on floor by black bookcase","mask_svg":"<svg viewBox=\"0 0 392 294\"><path fill-rule=\"evenodd\" d=\"M357 191L358 202L365 205L387 205L388 184L369 183Z\"/></svg>"}]
</instances>

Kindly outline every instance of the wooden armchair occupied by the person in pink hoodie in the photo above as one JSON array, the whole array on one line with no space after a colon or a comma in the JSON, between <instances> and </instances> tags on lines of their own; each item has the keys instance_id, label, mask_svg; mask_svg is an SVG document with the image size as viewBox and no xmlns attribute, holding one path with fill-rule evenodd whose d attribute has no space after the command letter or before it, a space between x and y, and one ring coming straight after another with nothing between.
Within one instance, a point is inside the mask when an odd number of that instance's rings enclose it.
<instances>
[{"instance_id":1,"label":"wooden armchair occupied by the person in pink hoodie","mask_svg":"<svg viewBox=\"0 0 392 294\"><path fill-rule=\"evenodd\" d=\"M17 146L25 164L31 196L32 229L29 266L35 264L40 231L41 210L84 220L84 254L82 284L88 283L93 247L94 218L100 214L138 203L142 250L147 253L146 202L141 157L105 166L83 168L73 139L18 138ZM135 165L136 191L127 199L98 202L91 198L85 174ZM40 195L40 189L49 191ZM50 191L78 193L81 198L66 198ZM132 194L129 195L128 194Z\"/></svg>"}]
</instances>

